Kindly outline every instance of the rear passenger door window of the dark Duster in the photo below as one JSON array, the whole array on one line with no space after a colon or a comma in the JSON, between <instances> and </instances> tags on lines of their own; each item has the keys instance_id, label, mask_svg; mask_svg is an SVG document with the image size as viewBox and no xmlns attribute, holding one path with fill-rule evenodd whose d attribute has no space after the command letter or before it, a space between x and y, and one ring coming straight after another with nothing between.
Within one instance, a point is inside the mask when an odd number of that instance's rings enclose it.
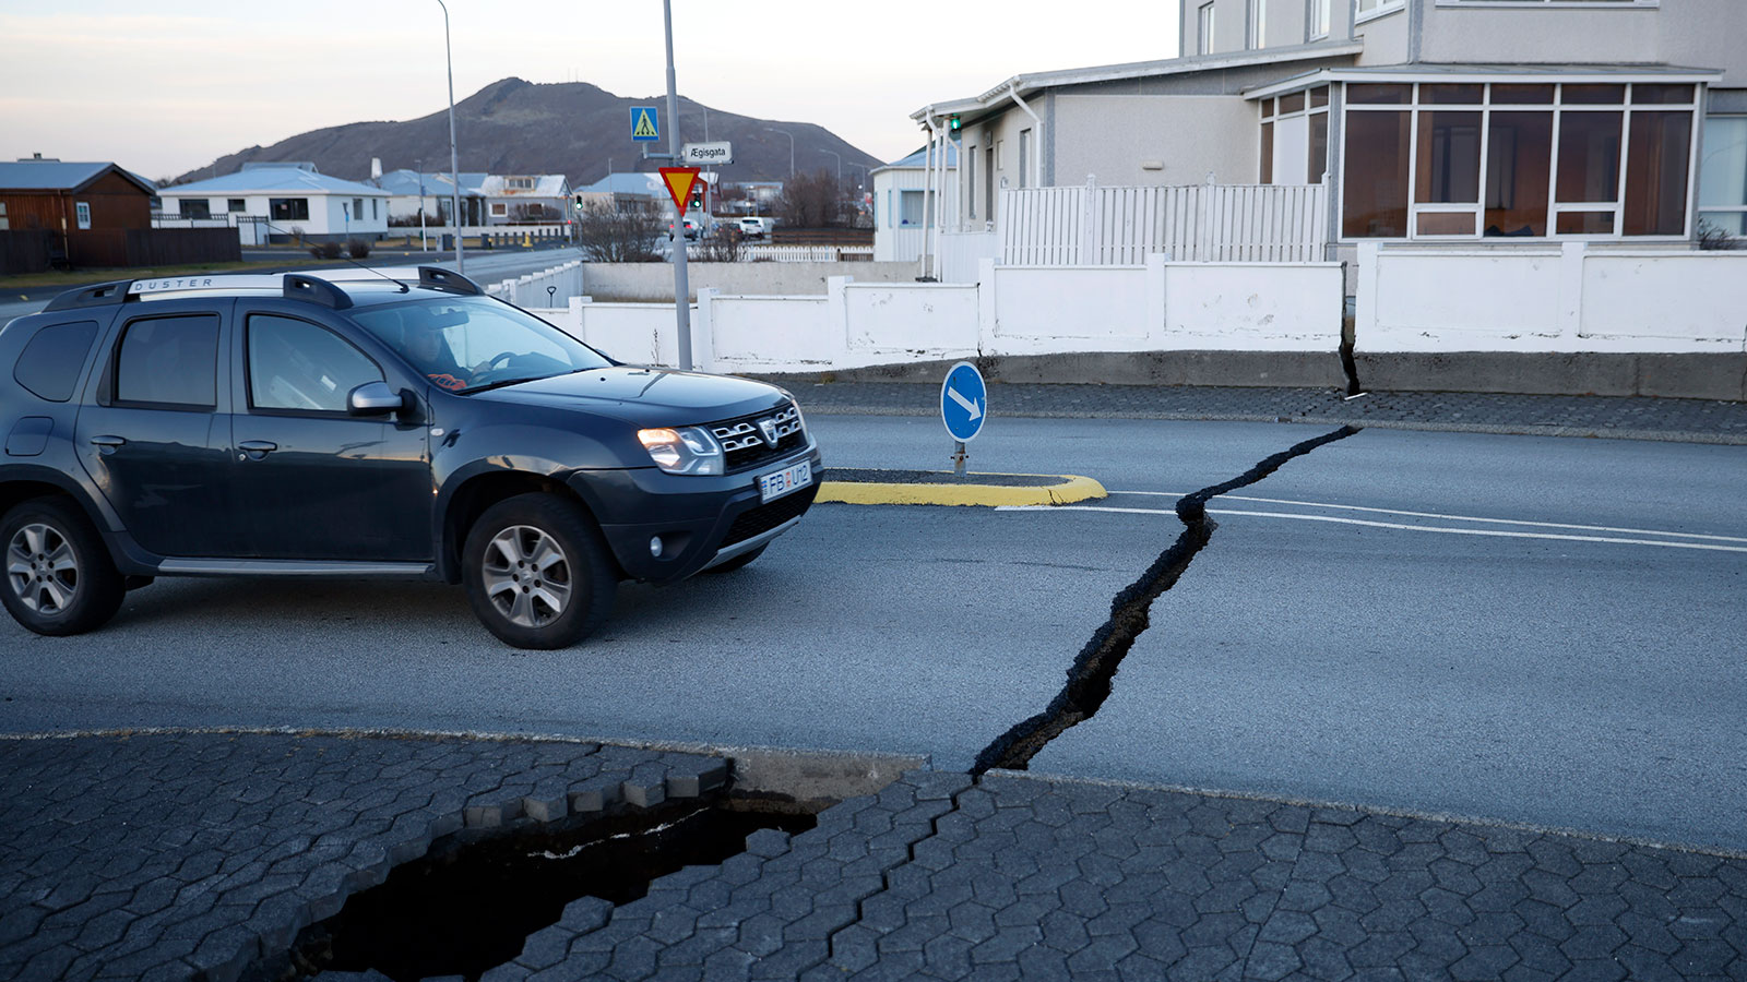
<instances>
[{"instance_id":1,"label":"rear passenger door window of the dark Duster","mask_svg":"<svg viewBox=\"0 0 1747 982\"><path fill-rule=\"evenodd\" d=\"M115 358L115 400L217 409L218 316L157 316L129 323Z\"/></svg>"}]
</instances>

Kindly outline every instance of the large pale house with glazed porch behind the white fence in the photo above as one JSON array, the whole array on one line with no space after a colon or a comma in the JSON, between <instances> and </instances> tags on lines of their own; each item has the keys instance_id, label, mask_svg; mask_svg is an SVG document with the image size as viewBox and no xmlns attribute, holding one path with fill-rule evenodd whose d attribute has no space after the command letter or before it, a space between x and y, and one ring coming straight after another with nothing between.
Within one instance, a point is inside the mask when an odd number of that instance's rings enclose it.
<instances>
[{"instance_id":1,"label":"large pale house with glazed porch behind the white fence","mask_svg":"<svg viewBox=\"0 0 1747 982\"><path fill-rule=\"evenodd\" d=\"M1003 187L1321 183L1328 241L1747 231L1740 0L1181 0L1177 58L1013 75L914 119Z\"/></svg>"}]
</instances>

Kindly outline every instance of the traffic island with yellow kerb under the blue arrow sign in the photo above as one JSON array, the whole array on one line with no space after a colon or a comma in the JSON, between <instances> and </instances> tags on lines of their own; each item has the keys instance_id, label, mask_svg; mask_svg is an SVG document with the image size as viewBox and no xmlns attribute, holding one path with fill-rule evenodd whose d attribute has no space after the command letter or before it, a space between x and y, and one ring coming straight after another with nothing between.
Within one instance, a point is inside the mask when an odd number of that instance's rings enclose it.
<instances>
[{"instance_id":1,"label":"traffic island with yellow kerb under the blue arrow sign","mask_svg":"<svg viewBox=\"0 0 1747 982\"><path fill-rule=\"evenodd\" d=\"M1104 486L1074 474L952 474L833 467L819 501L847 505L1073 505L1106 498Z\"/></svg>"}]
</instances>

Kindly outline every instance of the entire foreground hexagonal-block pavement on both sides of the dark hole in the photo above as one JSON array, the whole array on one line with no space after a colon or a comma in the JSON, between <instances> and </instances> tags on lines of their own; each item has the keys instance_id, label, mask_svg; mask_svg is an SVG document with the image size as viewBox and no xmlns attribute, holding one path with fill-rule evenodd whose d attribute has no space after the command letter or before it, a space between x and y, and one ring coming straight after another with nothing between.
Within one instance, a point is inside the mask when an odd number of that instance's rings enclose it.
<instances>
[{"instance_id":1,"label":"entire foreground hexagonal-block pavement on both sides of the dark hole","mask_svg":"<svg viewBox=\"0 0 1747 982\"><path fill-rule=\"evenodd\" d=\"M5 739L0 979L234 979L433 839L725 778L580 743ZM1747 858L912 771L641 900L577 900L484 979L1747 979Z\"/></svg>"}]
</instances>

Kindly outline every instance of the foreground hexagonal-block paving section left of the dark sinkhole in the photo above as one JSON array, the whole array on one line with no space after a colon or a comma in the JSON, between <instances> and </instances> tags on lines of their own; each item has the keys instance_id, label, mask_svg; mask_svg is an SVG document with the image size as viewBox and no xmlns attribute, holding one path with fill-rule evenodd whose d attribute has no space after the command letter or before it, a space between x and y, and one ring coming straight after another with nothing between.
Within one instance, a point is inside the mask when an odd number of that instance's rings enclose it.
<instances>
[{"instance_id":1,"label":"foreground hexagonal-block paving section left of the dark sinkhole","mask_svg":"<svg viewBox=\"0 0 1747 982\"><path fill-rule=\"evenodd\" d=\"M725 779L557 741L0 739L0 979L236 979L438 837Z\"/></svg>"}]
</instances>

